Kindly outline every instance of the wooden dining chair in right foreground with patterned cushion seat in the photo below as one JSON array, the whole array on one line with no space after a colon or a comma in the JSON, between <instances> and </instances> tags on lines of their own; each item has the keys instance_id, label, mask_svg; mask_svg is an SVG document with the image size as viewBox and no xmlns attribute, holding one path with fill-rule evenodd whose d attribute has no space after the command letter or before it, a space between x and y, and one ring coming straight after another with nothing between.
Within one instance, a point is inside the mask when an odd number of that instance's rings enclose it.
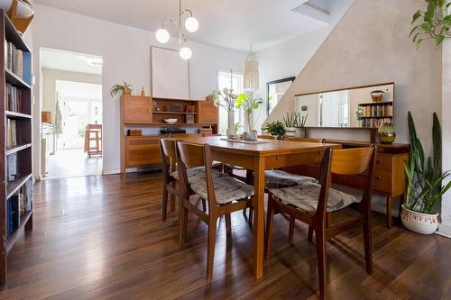
<instances>
[{"instance_id":1,"label":"wooden dining chair in right foreground with patterned cushion seat","mask_svg":"<svg viewBox=\"0 0 451 300\"><path fill-rule=\"evenodd\" d=\"M324 153L319 182L275 188L269 191L265 252L270 257L272 226L275 213L289 214L308 224L308 240L313 232L317 245L319 294L326 298L326 240L340 232L362 226L364 231L364 256L366 272L372 274L371 199L376 148L331 150ZM347 195L331 188L332 173L340 176L359 174L364 180L364 195L357 209L349 205L357 202L354 195Z\"/></svg>"}]
</instances>

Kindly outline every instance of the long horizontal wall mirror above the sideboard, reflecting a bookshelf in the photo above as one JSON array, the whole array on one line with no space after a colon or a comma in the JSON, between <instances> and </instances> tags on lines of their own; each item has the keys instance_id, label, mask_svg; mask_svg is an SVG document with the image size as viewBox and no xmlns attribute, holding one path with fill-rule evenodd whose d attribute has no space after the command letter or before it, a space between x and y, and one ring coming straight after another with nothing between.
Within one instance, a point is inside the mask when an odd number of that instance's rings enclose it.
<instances>
[{"instance_id":1,"label":"long horizontal wall mirror above the sideboard, reflecting a bookshelf","mask_svg":"<svg viewBox=\"0 0 451 300\"><path fill-rule=\"evenodd\" d=\"M377 128L394 123L394 83L296 95L306 127Z\"/></svg>"}]
</instances>

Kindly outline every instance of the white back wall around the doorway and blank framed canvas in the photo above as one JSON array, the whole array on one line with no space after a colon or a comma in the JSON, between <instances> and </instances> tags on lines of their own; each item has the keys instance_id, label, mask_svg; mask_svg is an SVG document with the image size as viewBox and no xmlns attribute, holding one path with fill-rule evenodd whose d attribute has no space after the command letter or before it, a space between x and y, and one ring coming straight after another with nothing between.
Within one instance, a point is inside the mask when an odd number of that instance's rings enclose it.
<instances>
[{"instance_id":1,"label":"white back wall around the doorway and blank framed canvas","mask_svg":"<svg viewBox=\"0 0 451 300\"><path fill-rule=\"evenodd\" d=\"M36 5L33 45L34 53L37 53L40 48L51 48L94 54L104 59L102 76L104 173L118 172L120 166L119 102L111 99L109 88L125 79L133 83L136 93L139 93L141 86L144 86L148 94L150 93L150 47L161 45L155 40L153 32L108 23L45 5ZM177 44L166 46L178 48ZM190 59L190 89L191 96L195 99L204 99L212 89L216 88L217 68L235 70L243 68L246 57L244 52L195 42L189 42L189 46L193 50L193 57ZM35 55L34 69L39 69L39 66L39 58ZM36 82L39 83L39 72L35 72L35 76ZM38 98L40 86L35 87L35 95ZM35 113L38 113L36 114L39 114L39 105L40 100L37 99ZM38 117L41 118L39 115ZM35 126L36 123L40 123L36 119L38 118L35 118ZM38 174L39 159L35 157L34 161L36 164L33 172Z\"/></svg>"}]
</instances>

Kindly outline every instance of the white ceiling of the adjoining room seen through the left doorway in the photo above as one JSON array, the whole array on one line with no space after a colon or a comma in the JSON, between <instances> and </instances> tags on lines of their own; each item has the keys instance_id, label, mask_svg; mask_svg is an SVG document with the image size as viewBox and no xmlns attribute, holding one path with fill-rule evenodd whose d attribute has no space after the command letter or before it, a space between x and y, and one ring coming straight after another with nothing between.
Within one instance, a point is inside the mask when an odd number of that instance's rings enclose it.
<instances>
[{"instance_id":1,"label":"white ceiling of the adjoining room seen through the left doorway","mask_svg":"<svg viewBox=\"0 0 451 300\"><path fill-rule=\"evenodd\" d=\"M41 49L40 54L41 68L95 75L102 74L102 67L92 66L87 62L88 59L100 59L94 55L51 49Z\"/></svg>"}]
</instances>

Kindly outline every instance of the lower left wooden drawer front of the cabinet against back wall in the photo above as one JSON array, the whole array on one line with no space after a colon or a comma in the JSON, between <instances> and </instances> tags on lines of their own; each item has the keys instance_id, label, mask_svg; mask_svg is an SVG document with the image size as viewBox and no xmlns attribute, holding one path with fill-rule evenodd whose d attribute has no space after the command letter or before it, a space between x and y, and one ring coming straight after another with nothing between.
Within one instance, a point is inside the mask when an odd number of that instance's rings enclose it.
<instances>
[{"instance_id":1,"label":"lower left wooden drawer front of the cabinet against back wall","mask_svg":"<svg viewBox=\"0 0 451 300\"><path fill-rule=\"evenodd\" d=\"M127 139L125 158L127 168L161 164L158 137Z\"/></svg>"}]
</instances>

